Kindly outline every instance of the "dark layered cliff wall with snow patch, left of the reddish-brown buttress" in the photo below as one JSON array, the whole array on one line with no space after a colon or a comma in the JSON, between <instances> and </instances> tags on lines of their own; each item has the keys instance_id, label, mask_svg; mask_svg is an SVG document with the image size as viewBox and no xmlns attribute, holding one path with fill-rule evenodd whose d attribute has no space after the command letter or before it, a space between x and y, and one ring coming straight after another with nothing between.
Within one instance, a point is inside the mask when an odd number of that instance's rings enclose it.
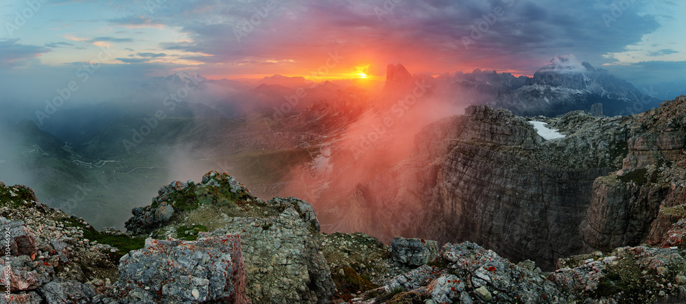
<instances>
[{"instance_id":1,"label":"dark layered cliff wall with snow patch, left of the reddish-brown buttress","mask_svg":"<svg viewBox=\"0 0 686 304\"><path fill-rule=\"evenodd\" d=\"M579 225L593 181L619 168L624 155L613 147L626 144L626 118L573 112L547 120L567 137L543 140L507 110L477 105L465 113L425 127L409 160L364 185L369 191L349 213L370 218L351 218L366 220L352 226L386 242L471 240L546 269L582 253Z\"/></svg>"}]
</instances>

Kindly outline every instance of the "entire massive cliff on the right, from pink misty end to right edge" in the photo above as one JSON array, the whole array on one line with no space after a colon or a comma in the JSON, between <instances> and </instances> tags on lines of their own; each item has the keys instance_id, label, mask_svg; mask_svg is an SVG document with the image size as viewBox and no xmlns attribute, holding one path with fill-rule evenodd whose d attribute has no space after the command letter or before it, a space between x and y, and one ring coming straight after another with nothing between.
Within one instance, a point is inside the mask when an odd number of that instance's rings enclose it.
<instances>
[{"instance_id":1,"label":"entire massive cliff on the right, from pink misty end to right edge","mask_svg":"<svg viewBox=\"0 0 686 304\"><path fill-rule=\"evenodd\" d=\"M364 216L337 227L386 240L471 240L549 269L559 257L658 244L677 218L661 208L683 203L683 103L637 116L541 119L566 134L556 140L507 110L469 107L425 127L410 159L359 185L346 212Z\"/></svg>"}]
</instances>

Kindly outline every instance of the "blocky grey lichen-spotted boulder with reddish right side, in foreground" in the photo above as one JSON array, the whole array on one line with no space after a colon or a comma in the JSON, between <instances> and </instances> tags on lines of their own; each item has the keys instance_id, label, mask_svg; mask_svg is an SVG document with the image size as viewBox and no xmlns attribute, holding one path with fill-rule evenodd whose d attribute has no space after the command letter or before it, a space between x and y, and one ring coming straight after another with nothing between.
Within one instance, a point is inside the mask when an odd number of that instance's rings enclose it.
<instances>
[{"instance_id":1,"label":"blocky grey lichen-spotted boulder with reddish right side, in foreground","mask_svg":"<svg viewBox=\"0 0 686 304\"><path fill-rule=\"evenodd\" d=\"M147 239L121 258L119 281L97 303L249 303L237 235L197 241Z\"/></svg>"}]
</instances>

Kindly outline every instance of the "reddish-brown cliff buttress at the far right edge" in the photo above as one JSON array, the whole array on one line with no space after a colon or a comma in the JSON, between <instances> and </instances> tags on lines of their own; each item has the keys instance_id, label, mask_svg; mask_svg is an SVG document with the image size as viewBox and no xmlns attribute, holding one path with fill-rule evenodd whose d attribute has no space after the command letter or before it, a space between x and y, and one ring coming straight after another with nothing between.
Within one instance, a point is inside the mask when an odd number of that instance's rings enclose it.
<instances>
[{"instance_id":1,"label":"reddish-brown cliff buttress at the far right edge","mask_svg":"<svg viewBox=\"0 0 686 304\"><path fill-rule=\"evenodd\" d=\"M686 97L632 116L622 170L595 180L587 220L587 250L641 242L661 244L683 216L686 201Z\"/></svg>"}]
</instances>

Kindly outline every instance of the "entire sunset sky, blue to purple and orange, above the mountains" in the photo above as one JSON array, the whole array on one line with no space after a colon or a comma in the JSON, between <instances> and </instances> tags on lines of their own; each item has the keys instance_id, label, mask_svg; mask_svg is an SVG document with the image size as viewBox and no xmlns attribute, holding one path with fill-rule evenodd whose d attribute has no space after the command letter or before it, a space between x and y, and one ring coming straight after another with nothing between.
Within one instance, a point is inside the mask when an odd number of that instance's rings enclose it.
<instances>
[{"instance_id":1,"label":"entire sunset sky, blue to purple and orange, above the mountains","mask_svg":"<svg viewBox=\"0 0 686 304\"><path fill-rule=\"evenodd\" d=\"M686 1L3 0L0 73L93 61L106 47L106 65L137 75L336 78L366 66L383 77L389 63L532 75L574 54L667 81L686 68L685 15Z\"/></svg>"}]
</instances>

